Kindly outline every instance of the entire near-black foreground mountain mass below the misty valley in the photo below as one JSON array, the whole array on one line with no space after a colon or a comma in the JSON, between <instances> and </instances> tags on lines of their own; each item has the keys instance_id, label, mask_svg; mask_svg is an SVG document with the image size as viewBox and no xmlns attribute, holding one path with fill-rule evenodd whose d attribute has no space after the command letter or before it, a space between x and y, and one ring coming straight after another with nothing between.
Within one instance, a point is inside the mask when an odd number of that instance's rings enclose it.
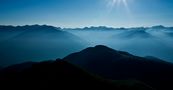
<instances>
[{"instance_id":1,"label":"entire near-black foreground mountain mass below the misty valley","mask_svg":"<svg viewBox=\"0 0 173 90\"><path fill-rule=\"evenodd\" d=\"M38 88L79 89L83 86L106 90L172 90L172 76L172 63L98 45L56 61L4 68L0 71L0 83Z\"/></svg>"}]
</instances>

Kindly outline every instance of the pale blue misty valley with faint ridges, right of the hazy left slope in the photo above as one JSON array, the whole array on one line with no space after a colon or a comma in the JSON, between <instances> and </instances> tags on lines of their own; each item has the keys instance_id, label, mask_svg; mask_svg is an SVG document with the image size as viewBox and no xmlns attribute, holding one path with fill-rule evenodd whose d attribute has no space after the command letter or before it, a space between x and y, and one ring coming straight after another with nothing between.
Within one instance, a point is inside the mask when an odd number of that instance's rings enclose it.
<instances>
[{"instance_id":1,"label":"pale blue misty valley with faint ridges, right of the hazy left slope","mask_svg":"<svg viewBox=\"0 0 173 90\"><path fill-rule=\"evenodd\" d=\"M129 28L109 30L68 30L90 46L106 45L139 56L154 56L173 62L172 28Z\"/></svg>"}]
</instances>

